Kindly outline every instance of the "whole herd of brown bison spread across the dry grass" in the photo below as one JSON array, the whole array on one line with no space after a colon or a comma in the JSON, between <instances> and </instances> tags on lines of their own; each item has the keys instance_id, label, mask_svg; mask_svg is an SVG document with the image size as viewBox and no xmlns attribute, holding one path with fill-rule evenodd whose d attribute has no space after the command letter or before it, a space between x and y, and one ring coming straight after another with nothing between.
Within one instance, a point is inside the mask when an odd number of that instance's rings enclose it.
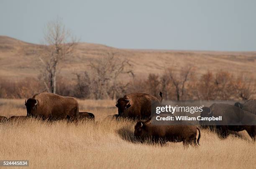
<instances>
[{"instance_id":1,"label":"whole herd of brown bison spread across the dry grass","mask_svg":"<svg viewBox=\"0 0 256 169\"><path fill-rule=\"evenodd\" d=\"M119 98L115 104L118 108L118 114L111 115L113 119L122 117L139 120L134 127L134 138L138 141L151 139L154 142L183 142L184 145L199 145L201 132L195 125L177 124L177 125L154 125L151 122L151 104L152 102L161 105L161 99L150 94L131 93ZM95 116L89 112L79 112L79 104L74 97L63 97L52 93L39 93L25 100L27 116L14 116L7 119L0 117L0 121L12 121L16 119L26 119L27 117L40 117L43 120L67 119L69 122L76 122L79 119L95 120ZM251 138L256 139L255 125L228 125L234 118L246 117L252 122L256 122L256 101L249 100L244 104L236 102L231 104L212 104L210 107L204 107L201 117L218 117L225 113L223 119L227 125L200 123L201 127L215 129L217 134L225 138L228 131L239 132L246 130ZM239 120L239 119L238 119ZM253 124L253 123L252 123ZM198 130L198 137L197 137Z\"/></svg>"}]
</instances>

